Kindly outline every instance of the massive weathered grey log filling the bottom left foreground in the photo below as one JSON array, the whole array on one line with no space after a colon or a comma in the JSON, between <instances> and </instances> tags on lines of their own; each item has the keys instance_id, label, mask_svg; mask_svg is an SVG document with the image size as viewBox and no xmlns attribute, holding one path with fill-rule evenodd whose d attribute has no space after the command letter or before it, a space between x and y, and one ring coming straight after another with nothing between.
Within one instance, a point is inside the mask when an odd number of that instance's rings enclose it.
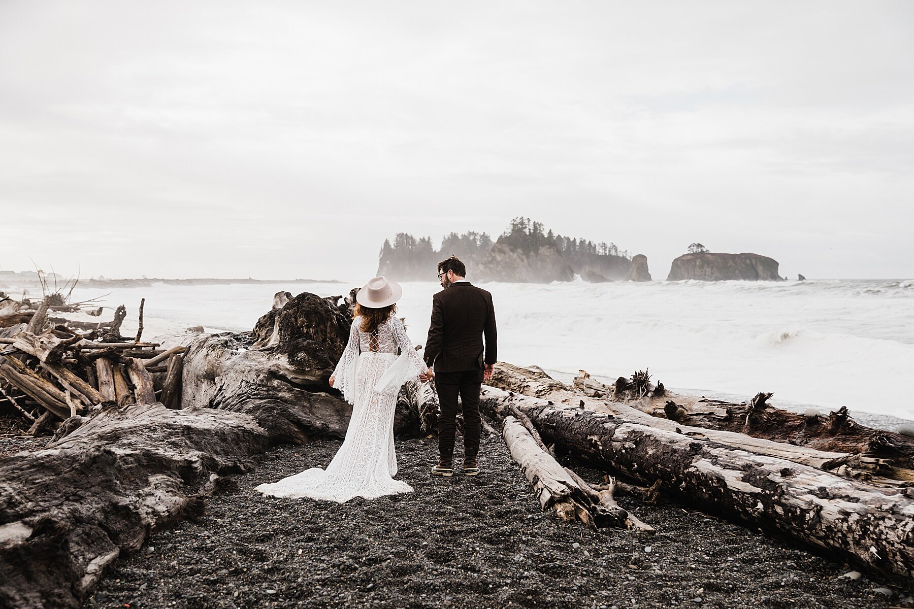
<instances>
[{"instance_id":1,"label":"massive weathered grey log filling the bottom left foreground","mask_svg":"<svg viewBox=\"0 0 914 609\"><path fill-rule=\"evenodd\" d=\"M269 442L248 415L110 404L47 450L0 457L0 606L79 607L122 552L199 514Z\"/></svg>"}]
</instances>

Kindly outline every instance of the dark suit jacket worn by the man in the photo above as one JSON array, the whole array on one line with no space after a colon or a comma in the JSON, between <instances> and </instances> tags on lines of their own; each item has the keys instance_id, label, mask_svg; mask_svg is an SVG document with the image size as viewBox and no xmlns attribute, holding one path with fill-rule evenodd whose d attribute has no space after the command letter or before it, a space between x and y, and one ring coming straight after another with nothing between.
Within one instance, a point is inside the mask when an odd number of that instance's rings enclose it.
<instances>
[{"instance_id":1,"label":"dark suit jacket worn by the man","mask_svg":"<svg viewBox=\"0 0 914 609\"><path fill-rule=\"evenodd\" d=\"M496 343L492 294L469 281L454 283L435 294L425 362L436 373L482 370L483 363L496 362Z\"/></svg>"}]
</instances>

